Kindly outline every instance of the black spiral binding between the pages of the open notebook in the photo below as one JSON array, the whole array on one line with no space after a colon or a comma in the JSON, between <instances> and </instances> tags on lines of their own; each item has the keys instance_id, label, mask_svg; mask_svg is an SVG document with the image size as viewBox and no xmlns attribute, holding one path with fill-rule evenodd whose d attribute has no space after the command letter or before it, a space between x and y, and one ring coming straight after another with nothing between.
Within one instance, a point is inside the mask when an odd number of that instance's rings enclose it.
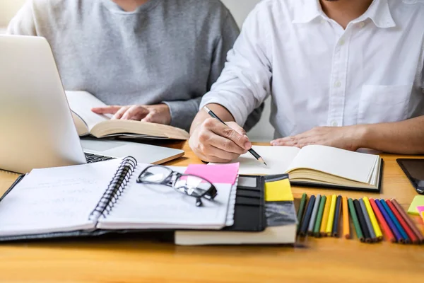
<instances>
[{"instance_id":1,"label":"black spiral binding between the pages of the open notebook","mask_svg":"<svg viewBox=\"0 0 424 283\"><path fill-rule=\"evenodd\" d=\"M90 213L89 220L98 220L100 216L110 214L114 204L117 203L122 192L124 192L124 189L128 184L131 175L134 173L136 166L136 158L132 156L126 157L122 160L117 172L114 174L114 177L107 186L107 190L100 198L100 201L93 212Z\"/></svg>"}]
</instances>

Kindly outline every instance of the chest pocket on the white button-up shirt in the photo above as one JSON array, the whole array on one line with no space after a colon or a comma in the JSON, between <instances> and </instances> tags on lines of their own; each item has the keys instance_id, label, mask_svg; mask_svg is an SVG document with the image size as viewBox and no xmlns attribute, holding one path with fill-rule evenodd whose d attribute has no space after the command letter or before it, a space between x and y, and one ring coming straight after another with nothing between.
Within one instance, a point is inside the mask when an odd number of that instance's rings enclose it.
<instances>
[{"instance_id":1,"label":"chest pocket on the white button-up shirt","mask_svg":"<svg viewBox=\"0 0 424 283\"><path fill-rule=\"evenodd\" d=\"M358 105L358 124L406 120L412 86L412 83L396 86L363 85Z\"/></svg>"}]
</instances>

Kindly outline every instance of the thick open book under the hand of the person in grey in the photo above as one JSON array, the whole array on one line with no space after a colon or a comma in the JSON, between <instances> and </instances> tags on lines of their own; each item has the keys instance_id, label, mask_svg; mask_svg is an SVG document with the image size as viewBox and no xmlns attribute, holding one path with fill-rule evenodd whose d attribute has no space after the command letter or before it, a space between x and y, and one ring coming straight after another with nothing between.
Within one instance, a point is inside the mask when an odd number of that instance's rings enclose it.
<instances>
[{"instance_id":1,"label":"thick open book under the hand of the person in grey","mask_svg":"<svg viewBox=\"0 0 424 283\"><path fill-rule=\"evenodd\" d=\"M86 91L66 91L66 97L81 137L92 135L99 139L104 137L189 139L189 134L184 129L140 121L110 120L112 115L95 114L91 108L106 105Z\"/></svg>"}]
</instances>

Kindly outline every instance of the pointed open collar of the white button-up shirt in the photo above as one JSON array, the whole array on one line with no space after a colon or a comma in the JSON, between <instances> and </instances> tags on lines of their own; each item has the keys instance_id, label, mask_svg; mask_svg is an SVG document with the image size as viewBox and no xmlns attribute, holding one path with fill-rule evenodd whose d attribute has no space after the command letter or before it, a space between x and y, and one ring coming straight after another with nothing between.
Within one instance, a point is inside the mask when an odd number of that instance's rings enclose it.
<instances>
[{"instance_id":1,"label":"pointed open collar of the white button-up shirt","mask_svg":"<svg viewBox=\"0 0 424 283\"><path fill-rule=\"evenodd\" d=\"M319 0L301 1L298 0L298 5L295 6L295 13L292 23L310 23L314 18L322 16L326 18L322 11ZM393 17L391 16L389 3L387 0L374 0L370 8L355 22L364 21L370 18L378 28L393 28L396 26Z\"/></svg>"}]
</instances>

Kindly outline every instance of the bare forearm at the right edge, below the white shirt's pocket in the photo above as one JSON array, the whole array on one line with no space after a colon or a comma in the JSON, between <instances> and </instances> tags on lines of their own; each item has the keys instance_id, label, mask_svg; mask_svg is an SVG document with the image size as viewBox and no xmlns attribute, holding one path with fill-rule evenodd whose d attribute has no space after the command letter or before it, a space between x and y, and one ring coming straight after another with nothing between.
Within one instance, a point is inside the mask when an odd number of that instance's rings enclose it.
<instances>
[{"instance_id":1,"label":"bare forearm at the right edge, below the white shirt's pocket","mask_svg":"<svg viewBox=\"0 0 424 283\"><path fill-rule=\"evenodd\" d=\"M375 125L358 125L358 147L391 154L424 154L424 116Z\"/></svg>"}]
</instances>

